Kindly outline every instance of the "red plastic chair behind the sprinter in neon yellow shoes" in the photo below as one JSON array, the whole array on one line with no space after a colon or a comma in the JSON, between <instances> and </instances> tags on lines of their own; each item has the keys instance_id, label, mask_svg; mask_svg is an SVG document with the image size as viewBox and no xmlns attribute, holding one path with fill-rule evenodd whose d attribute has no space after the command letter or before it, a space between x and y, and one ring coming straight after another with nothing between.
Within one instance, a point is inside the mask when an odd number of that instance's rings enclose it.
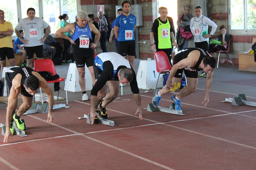
<instances>
[{"instance_id":1,"label":"red plastic chair behind the sprinter in neon yellow shoes","mask_svg":"<svg viewBox=\"0 0 256 170\"><path fill-rule=\"evenodd\" d=\"M55 75L56 70L54 67L54 64L51 59L44 59L44 60L34 60L34 70L35 71L48 71L51 73L51 75ZM68 104L68 95L67 95L67 85L66 85L66 79L65 78L57 78L56 80L51 80L51 81L46 81L47 83L56 83L56 82L61 82L65 81L65 86L66 86L66 99L67 99L67 104ZM40 88L40 93L41 93L41 99L43 103L43 98L42 98L42 91ZM59 100L59 91L58 91L58 98L57 101Z\"/></svg>"}]
</instances>

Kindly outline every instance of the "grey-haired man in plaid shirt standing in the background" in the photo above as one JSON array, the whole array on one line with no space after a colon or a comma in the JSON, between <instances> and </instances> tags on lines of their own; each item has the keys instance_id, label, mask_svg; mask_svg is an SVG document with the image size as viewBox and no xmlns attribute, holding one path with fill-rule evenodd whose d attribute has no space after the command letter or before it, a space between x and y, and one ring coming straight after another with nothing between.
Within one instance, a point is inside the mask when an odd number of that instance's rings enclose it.
<instances>
[{"instance_id":1,"label":"grey-haired man in plaid shirt standing in the background","mask_svg":"<svg viewBox=\"0 0 256 170\"><path fill-rule=\"evenodd\" d=\"M102 11L97 14L99 18L99 29L100 29L100 48L103 53L108 52L106 46L106 39L108 37L108 22Z\"/></svg>"}]
</instances>

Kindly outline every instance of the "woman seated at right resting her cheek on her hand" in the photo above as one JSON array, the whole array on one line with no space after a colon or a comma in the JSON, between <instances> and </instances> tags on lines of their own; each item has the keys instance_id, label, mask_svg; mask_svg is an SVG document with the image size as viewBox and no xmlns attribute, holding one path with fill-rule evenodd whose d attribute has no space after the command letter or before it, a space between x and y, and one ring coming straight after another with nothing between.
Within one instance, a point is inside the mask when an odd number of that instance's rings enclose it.
<instances>
[{"instance_id":1,"label":"woman seated at right resting her cheek on her hand","mask_svg":"<svg viewBox=\"0 0 256 170\"><path fill-rule=\"evenodd\" d=\"M211 44L209 45L209 54L212 54L216 51L226 51L227 50L227 47L228 47L228 42L230 40L230 36L227 34L227 28L222 25L220 26L220 32L221 34L218 36L218 38L215 41L218 42L219 41L219 44ZM221 45L220 45L221 44Z\"/></svg>"}]
</instances>

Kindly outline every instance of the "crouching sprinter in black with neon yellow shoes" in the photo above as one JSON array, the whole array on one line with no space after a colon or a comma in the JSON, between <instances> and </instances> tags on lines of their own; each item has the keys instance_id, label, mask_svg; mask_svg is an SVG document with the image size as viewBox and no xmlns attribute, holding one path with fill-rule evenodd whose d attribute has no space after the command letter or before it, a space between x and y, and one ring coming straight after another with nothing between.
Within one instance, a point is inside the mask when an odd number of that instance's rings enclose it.
<instances>
[{"instance_id":1,"label":"crouching sprinter in black with neon yellow shoes","mask_svg":"<svg viewBox=\"0 0 256 170\"><path fill-rule=\"evenodd\" d=\"M16 122L19 129L24 130L24 123L21 122L20 116L25 113L32 105L33 95L39 87L42 87L48 95L49 112L47 122L52 122L53 93L50 86L39 73L29 67L14 67L5 73L5 82L7 86L8 106L6 108L6 131L4 142L13 134L13 121ZM18 106L18 95L21 94L23 103L15 114Z\"/></svg>"}]
</instances>

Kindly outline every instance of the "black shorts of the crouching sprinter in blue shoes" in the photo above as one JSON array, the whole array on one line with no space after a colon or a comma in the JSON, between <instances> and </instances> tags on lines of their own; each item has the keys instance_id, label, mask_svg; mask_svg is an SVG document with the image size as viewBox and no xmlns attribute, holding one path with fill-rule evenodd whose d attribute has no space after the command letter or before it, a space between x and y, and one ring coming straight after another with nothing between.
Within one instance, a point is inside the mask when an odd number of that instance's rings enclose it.
<instances>
[{"instance_id":1,"label":"black shorts of the crouching sprinter in blue shoes","mask_svg":"<svg viewBox=\"0 0 256 170\"><path fill-rule=\"evenodd\" d=\"M181 55L181 53L178 53L176 55ZM175 56L174 56L174 59L173 59L173 63L177 64L179 61L177 61L177 57L175 57ZM178 58L181 58L181 57L178 57ZM176 61L176 62L174 62L174 61ZM175 78L182 78L183 71L184 71L186 77L188 77L188 78L198 78L198 71L194 70L194 69L191 69L189 67L185 67L184 69L178 69L177 72L175 73L174 77Z\"/></svg>"}]
</instances>

